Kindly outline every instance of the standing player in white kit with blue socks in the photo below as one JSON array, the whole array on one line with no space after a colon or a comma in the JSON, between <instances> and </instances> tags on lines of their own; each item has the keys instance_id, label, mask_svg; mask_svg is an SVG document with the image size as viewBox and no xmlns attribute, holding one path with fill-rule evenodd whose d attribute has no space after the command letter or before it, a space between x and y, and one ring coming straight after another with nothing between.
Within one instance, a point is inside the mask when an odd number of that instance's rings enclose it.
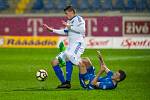
<instances>
[{"instance_id":1,"label":"standing player in white kit with blue socks","mask_svg":"<svg viewBox=\"0 0 150 100\"><path fill-rule=\"evenodd\" d=\"M67 22L62 21L65 26L64 29L53 29L46 24L43 26L50 32L54 32L60 35L68 35L69 45L64 52L61 52L54 60L52 60L52 66L56 76L61 82L57 88L71 88L71 74L73 67L72 65L84 66L81 61L81 54L85 49L85 21L81 16L76 15L76 11L72 6L67 6L64 9ZM59 66L59 61L66 61L66 79L64 78L63 72Z\"/></svg>"}]
</instances>

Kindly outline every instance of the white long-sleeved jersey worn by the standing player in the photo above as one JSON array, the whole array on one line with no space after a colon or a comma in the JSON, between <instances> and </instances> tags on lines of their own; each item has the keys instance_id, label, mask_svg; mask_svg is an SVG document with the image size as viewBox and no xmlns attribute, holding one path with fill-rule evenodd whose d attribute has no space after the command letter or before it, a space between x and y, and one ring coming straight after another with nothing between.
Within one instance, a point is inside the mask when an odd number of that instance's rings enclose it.
<instances>
[{"instance_id":1,"label":"white long-sleeved jersey worn by the standing player","mask_svg":"<svg viewBox=\"0 0 150 100\"><path fill-rule=\"evenodd\" d=\"M68 35L69 46L72 46L75 42L81 42L82 44L84 44L85 21L83 20L83 18L77 15L68 20L67 23L71 26L70 29L54 29L53 32L61 35Z\"/></svg>"}]
</instances>

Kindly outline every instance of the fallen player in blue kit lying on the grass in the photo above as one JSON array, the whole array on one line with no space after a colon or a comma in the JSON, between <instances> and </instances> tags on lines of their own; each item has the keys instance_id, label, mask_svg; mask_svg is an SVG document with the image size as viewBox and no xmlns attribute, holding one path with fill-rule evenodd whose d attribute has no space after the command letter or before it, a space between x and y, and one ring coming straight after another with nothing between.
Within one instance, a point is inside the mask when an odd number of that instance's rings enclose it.
<instances>
[{"instance_id":1,"label":"fallen player in blue kit lying on the grass","mask_svg":"<svg viewBox=\"0 0 150 100\"><path fill-rule=\"evenodd\" d=\"M117 87L117 84L123 81L126 78L126 74L122 70L118 70L117 72L113 73L108 67L106 66L102 55L98 52L98 57L100 61L100 70L98 71L97 75L94 74L94 70L89 72L88 66L92 66L92 63L89 59L83 59L84 64L86 67L79 67L79 79L80 84L85 89L114 89ZM106 73L105 77L101 77L103 73Z\"/></svg>"}]
</instances>

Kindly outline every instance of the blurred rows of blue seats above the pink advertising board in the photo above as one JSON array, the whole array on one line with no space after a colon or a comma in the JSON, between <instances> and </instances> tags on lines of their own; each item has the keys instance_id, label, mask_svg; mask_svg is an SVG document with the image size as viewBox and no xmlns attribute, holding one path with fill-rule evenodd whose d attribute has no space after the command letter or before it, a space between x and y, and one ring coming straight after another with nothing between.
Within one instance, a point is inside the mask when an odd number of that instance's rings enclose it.
<instances>
[{"instance_id":1,"label":"blurred rows of blue seats above the pink advertising board","mask_svg":"<svg viewBox=\"0 0 150 100\"><path fill-rule=\"evenodd\" d=\"M0 11L2 14L56 13L70 4L79 12L86 13L150 11L149 0L0 0Z\"/></svg>"}]
</instances>

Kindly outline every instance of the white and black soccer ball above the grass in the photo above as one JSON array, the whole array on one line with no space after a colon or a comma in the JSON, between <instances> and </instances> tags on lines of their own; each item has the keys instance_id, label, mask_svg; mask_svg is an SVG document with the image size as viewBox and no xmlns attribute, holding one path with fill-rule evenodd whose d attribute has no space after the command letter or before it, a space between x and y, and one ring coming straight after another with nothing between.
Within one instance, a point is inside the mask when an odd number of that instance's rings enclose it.
<instances>
[{"instance_id":1,"label":"white and black soccer ball above the grass","mask_svg":"<svg viewBox=\"0 0 150 100\"><path fill-rule=\"evenodd\" d=\"M48 77L48 74L44 69L40 69L39 71L36 72L36 78L39 81L45 81L47 77Z\"/></svg>"}]
</instances>

